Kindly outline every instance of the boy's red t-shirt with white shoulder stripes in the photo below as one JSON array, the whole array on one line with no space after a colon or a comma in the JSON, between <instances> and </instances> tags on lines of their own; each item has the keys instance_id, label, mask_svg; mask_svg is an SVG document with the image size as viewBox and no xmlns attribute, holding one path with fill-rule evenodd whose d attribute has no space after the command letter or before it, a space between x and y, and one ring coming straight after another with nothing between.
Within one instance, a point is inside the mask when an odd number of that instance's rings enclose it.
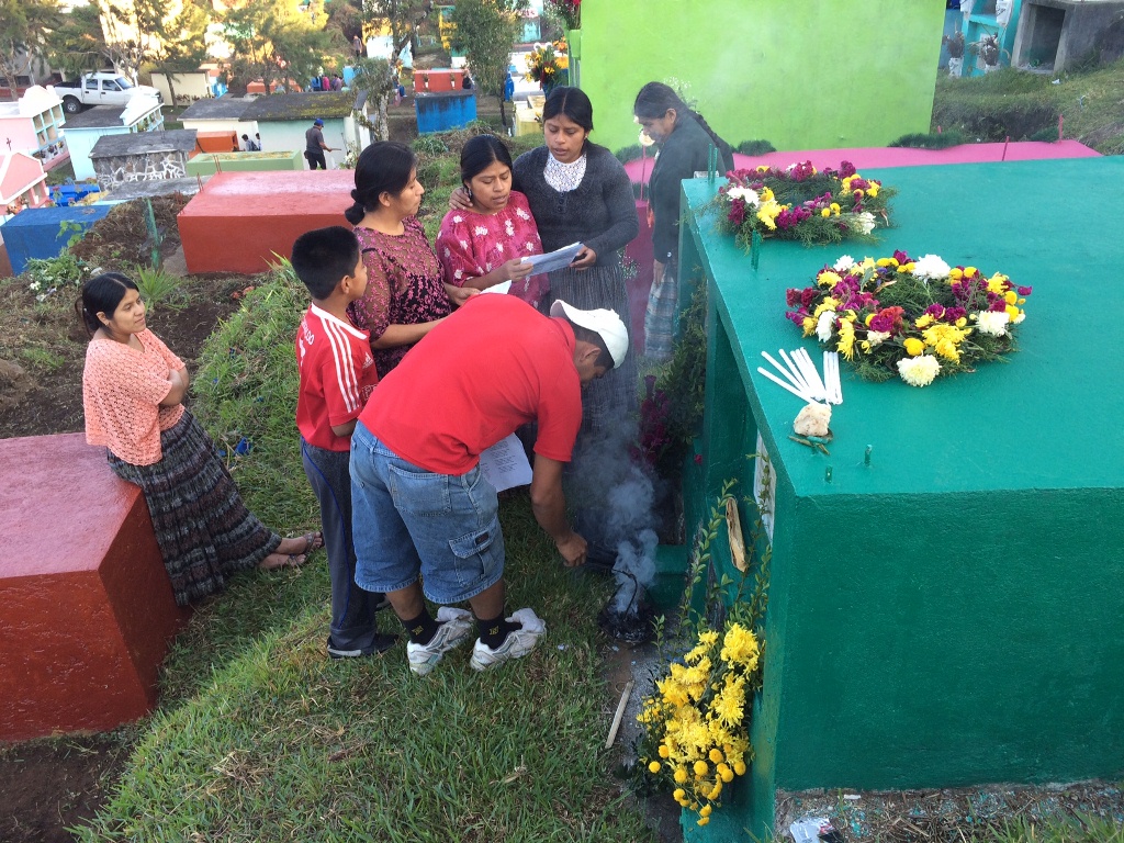
<instances>
[{"instance_id":1,"label":"boy's red t-shirt with white shoulder stripes","mask_svg":"<svg viewBox=\"0 0 1124 843\"><path fill-rule=\"evenodd\" d=\"M297 329L297 427L310 445L350 451L351 438L333 425L359 418L379 382L371 356L371 335L310 305Z\"/></svg>"}]
</instances>

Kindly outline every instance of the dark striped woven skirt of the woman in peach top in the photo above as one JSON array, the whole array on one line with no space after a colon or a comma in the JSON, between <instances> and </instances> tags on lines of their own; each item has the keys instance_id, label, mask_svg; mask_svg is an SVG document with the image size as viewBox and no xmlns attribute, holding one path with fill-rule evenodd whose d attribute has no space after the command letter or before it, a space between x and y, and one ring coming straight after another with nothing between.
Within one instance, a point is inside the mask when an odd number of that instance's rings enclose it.
<instances>
[{"instance_id":1,"label":"dark striped woven skirt of the woman in peach top","mask_svg":"<svg viewBox=\"0 0 1124 843\"><path fill-rule=\"evenodd\" d=\"M189 411L161 433L160 444L164 455L152 465L107 453L114 473L144 491L175 602L185 606L223 591L228 577L273 553L281 536L246 509L215 444Z\"/></svg>"}]
</instances>

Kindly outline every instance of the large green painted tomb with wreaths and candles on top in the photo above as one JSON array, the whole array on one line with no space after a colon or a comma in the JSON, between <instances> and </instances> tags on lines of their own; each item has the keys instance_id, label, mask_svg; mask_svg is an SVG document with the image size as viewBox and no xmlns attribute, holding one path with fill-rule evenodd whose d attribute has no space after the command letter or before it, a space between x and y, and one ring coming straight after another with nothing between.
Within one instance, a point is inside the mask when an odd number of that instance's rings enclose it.
<instances>
[{"instance_id":1,"label":"large green painted tomb with wreaths and candles on top","mask_svg":"<svg viewBox=\"0 0 1124 843\"><path fill-rule=\"evenodd\" d=\"M737 461L758 429L778 472L758 759L732 809L688 840L762 833L778 787L1124 774L1124 395L1105 357L1124 243L1108 214L1054 215L1043 232L1035 202L1064 185L1112 207L1124 161L864 174L900 190L880 245L767 242L754 272L704 218L682 250L711 284L705 477L685 495L713 496L724 474L749 488ZM685 183L694 207L713 191ZM1033 285L1022 351L925 389L844 371L831 456L814 453L787 438L799 400L755 371L762 350L816 351L782 318L783 291L840 254L895 248Z\"/></svg>"}]
</instances>

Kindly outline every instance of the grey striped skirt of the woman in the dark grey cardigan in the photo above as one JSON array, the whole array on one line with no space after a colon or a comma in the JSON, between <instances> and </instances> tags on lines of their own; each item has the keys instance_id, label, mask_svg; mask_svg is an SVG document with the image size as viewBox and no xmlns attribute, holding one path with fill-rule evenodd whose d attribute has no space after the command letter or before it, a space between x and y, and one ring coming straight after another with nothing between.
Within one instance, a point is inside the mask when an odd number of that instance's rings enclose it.
<instances>
[{"instance_id":1,"label":"grey striped skirt of the woman in the dark grey cardigan","mask_svg":"<svg viewBox=\"0 0 1124 843\"><path fill-rule=\"evenodd\" d=\"M588 270L559 270L550 273L551 289L540 306L544 314L562 299L581 310L608 308L627 326L631 324L628 290L620 264L591 266ZM584 434L605 434L636 413L636 353L629 343L628 356L620 366L609 370L581 391L581 428Z\"/></svg>"}]
</instances>

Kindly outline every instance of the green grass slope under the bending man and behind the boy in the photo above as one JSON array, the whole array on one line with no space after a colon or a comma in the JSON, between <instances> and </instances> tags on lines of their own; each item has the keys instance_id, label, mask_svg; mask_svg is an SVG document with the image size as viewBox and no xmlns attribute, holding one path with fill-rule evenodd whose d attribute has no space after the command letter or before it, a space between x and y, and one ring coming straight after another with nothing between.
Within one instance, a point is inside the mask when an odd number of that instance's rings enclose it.
<instances>
[{"instance_id":1,"label":"green grass slope under the bending man and behind the boy","mask_svg":"<svg viewBox=\"0 0 1124 843\"><path fill-rule=\"evenodd\" d=\"M247 504L297 532L317 519L297 452L292 336L306 293L281 268L209 341L199 417ZM234 456L242 437L250 453ZM238 578L175 642L160 711L80 840L643 841L601 747L608 718L593 618L607 580L572 572L525 491L501 496L509 608L547 635L495 672L448 654L425 680L405 642L325 656L323 554ZM384 631L400 632L390 613Z\"/></svg>"}]
</instances>

